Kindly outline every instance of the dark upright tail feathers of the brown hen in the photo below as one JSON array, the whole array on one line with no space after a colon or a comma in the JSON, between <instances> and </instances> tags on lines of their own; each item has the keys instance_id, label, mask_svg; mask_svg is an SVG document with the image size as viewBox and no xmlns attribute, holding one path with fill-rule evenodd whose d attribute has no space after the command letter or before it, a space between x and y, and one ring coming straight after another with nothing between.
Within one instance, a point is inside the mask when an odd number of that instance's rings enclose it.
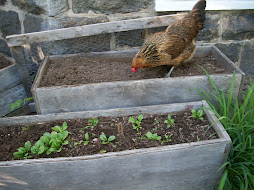
<instances>
[{"instance_id":1,"label":"dark upright tail feathers of the brown hen","mask_svg":"<svg viewBox=\"0 0 254 190\"><path fill-rule=\"evenodd\" d=\"M206 8L206 0L199 0L194 5L191 11L191 14L195 17L199 30L204 28L204 22L206 18L205 8Z\"/></svg>"}]
</instances>

